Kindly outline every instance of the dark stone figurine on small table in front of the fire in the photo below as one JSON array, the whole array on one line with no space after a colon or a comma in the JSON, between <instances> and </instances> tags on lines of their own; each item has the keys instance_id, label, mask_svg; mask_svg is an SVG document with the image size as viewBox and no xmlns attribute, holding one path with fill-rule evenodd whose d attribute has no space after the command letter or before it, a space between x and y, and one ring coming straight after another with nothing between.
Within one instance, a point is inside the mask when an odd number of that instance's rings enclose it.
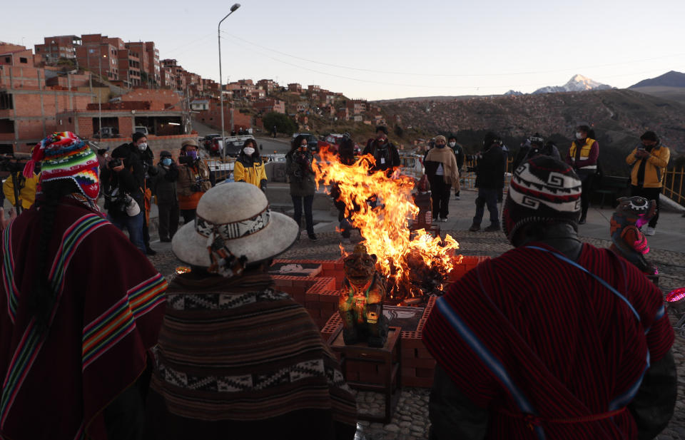
<instances>
[{"instance_id":1,"label":"dark stone figurine on small table in front of the fire","mask_svg":"<svg viewBox=\"0 0 685 440\"><path fill-rule=\"evenodd\" d=\"M388 322L383 316L385 280L376 270L376 255L362 244L345 257L345 280L340 293L342 338L345 344L367 341L369 347L383 347Z\"/></svg>"}]
</instances>

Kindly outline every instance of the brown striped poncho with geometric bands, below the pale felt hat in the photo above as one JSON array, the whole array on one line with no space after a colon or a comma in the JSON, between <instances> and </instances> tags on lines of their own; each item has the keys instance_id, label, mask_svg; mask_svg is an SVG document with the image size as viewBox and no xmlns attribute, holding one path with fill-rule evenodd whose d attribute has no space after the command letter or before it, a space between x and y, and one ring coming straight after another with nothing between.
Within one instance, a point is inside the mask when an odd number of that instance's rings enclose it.
<instances>
[{"instance_id":1,"label":"brown striped poncho with geometric bands, below the pale felt hat","mask_svg":"<svg viewBox=\"0 0 685 440\"><path fill-rule=\"evenodd\" d=\"M148 396L158 439L352 439L338 362L272 285L262 272L171 282Z\"/></svg>"}]
</instances>

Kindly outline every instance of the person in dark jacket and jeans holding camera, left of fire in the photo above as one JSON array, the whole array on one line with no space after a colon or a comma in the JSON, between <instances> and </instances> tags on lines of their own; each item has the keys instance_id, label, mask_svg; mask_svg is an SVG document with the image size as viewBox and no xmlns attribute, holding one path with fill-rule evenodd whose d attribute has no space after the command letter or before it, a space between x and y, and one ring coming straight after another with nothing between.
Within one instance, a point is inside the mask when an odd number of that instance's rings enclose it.
<instances>
[{"instance_id":1,"label":"person in dark jacket and jeans holding camera, left of fire","mask_svg":"<svg viewBox=\"0 0 685 440\"><path fill-rule=\"evenodd\" d=\"M307 224L307 235L312 241L318 240L314 233L314 218L312 205L314 203L314 193L316 184L314 182L314 170L312 160L314 156L307 148L307 138L298 135L290 146L290 151L285 155L285 173L290 180L290 197L293 198L295 213L293 219L300 227L302 220L302 208L304 200L305 223ZM298 239L300 234L298 232Z\"/></svg>"}]
</instances>

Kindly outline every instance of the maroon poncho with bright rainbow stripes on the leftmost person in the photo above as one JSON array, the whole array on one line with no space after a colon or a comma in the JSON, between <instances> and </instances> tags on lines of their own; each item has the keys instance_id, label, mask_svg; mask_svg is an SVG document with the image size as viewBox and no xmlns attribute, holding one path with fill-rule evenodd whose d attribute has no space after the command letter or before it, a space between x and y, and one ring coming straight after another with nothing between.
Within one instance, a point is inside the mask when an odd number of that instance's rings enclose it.
<instances>
[{"instance_id":1,"label":"maroon poncho with bright rainbow stripes on the leftmost person","mask_svg":"<svg viewBox=\"0 0 685 440\"><path fill-rule=\"evenodd\" d=\"M0 439L104 440L103 408L156 343L166 281L110 222L64 198L48 246L56 300L38 332L29 292L40 235L36 208L2 232Z\"/></svg>"}]
</instances>

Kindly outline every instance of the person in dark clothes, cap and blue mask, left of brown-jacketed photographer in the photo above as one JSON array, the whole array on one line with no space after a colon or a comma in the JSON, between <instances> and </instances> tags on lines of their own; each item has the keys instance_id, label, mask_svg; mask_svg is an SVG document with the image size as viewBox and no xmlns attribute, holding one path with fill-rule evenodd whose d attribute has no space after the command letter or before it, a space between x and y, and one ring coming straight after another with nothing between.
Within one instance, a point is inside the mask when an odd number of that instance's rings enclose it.
<instances>
[{"instance_id":1,"label":"person in dark clothes, cap and blue mask, left of brown-jacketed photographer","mask_svg":"<svg viewBox=\"0 0 685 440\"><path fill-rule=\"evenodd\" d=\"M171 237L178 229L178 165L166 150L162 150L159 157L159 172L152 180L152 191L157 198L159 213L159 241L171 242Z\"/></svg>"}]
</instances>

